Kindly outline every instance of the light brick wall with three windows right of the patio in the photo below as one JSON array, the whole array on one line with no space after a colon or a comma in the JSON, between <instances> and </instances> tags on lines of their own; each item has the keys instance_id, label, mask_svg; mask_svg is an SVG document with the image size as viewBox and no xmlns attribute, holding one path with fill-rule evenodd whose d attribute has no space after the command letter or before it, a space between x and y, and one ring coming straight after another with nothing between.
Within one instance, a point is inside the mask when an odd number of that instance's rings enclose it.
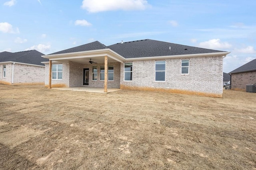
<instances>
[{"instance_id":1,"label":"light brick wall with three windows right of the patio","mask_svg":"<svg viewBox=\"0 0 256 170\"><path fill-rule=\"evenodd\" d=\"M222 96L222 56L191 57L189 74L181 74L181 59L166 59L166 81L155 82L155 61L133 61L132 81L124 81L124 64L121 64L121 88L169 91L185 94ZM131 61L132 62L132 61Z\"/></svg>"}]
</instances>

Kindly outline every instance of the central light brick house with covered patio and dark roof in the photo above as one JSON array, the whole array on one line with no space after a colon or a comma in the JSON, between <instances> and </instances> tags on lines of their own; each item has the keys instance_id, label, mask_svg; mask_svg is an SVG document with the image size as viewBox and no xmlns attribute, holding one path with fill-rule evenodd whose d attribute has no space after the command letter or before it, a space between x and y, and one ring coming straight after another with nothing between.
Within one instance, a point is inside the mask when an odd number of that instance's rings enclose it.
<instances>
[{"instance_id":1,"label":"central light brick house with covered patio and dark roof","mask_svg":"<svg viewBox=\"0 0 256 170\"><path fill-rule=\"evenodd\" d=\"M107 92L110 87L222 97L222 59L229 53L144 39L110 46L95 41L42 57L50 60L43 62L49 88L90 86Z\"/></svg>"}]
</instances>

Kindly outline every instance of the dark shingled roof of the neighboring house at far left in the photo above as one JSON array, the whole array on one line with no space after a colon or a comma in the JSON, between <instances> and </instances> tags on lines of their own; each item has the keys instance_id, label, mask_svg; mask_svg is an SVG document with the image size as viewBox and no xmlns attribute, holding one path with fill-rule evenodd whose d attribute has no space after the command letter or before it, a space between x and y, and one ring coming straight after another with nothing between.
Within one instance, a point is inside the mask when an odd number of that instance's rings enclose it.
<instances>
[{"instance_id":1,"label":"dark shingled roof of the neighboring house at far left","mask_svg":"<svg viewBox=\"0 0 256 170\"><path fill-rule=\"evenodd\" d=\"M16 53L4 51L0 53L0 62L14 61L18 63L35 64L35 65L44 66L44 64L42 64L41 62L49 61L49 59L42 58L41 57L42 55L44 54L36 50L21 51Z\"/></svg>"}]
</instances>

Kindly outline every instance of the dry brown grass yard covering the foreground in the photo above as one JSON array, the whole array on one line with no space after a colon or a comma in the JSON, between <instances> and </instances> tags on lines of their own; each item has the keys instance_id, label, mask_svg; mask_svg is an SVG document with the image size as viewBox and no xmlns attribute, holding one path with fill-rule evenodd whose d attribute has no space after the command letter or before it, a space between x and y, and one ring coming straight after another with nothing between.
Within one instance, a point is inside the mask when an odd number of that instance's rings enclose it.
<instances>
[{"instance_id":1,"label":"dry brown grass yard covering the foreground","mask_svg":"<svg viewBox=\"0 0 256 170\"><path fill-rule=\"evenodd\" d=\"M256 170L256 93L0 94L0 169Z\"/></svg>"}]
</instances>

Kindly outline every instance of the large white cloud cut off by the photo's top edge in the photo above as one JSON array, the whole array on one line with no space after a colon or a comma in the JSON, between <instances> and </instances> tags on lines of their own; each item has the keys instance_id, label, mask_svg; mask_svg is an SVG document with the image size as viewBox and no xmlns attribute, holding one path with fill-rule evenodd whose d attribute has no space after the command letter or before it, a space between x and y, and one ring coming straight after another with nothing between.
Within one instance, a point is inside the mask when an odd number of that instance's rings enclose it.
<instances>
[{"instance_id":1,"label":"large white cloud cut off by the photo's top edge","mask_svg":"<svg viewBox=\"0 0 256 170\"><path fill-rule=\"evenodd\" d=\"M88 12L102 12L113 10L145 10L147 0L83 0L82 9Z\"/></svg>"}]
</instances>

